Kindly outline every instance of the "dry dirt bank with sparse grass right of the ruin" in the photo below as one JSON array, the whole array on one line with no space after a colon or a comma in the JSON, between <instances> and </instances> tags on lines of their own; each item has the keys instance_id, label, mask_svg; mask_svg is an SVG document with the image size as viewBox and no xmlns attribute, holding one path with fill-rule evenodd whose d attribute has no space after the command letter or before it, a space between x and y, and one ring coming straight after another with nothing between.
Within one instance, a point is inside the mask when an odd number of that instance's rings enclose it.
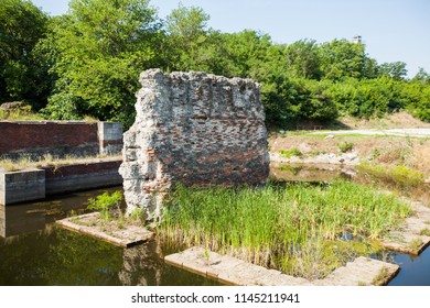
<instances>
[{"instance_id":1,"label":"dry dirt bank with sparse grass right of the ruin","mask_svg":"<svg viewBox=\"0 0 430 308\"><path fill-rule=\"evenodd\" d=\"M384 128L376 128L377 123L375 121L384 123ZM347 119L344 120L340 129L345 130L346 125L352 125L357 130L376 131L383 129L430 128L430 123L421 122L405 112L367 122ZM354 130L348 131L347 134L334 134L330 131L319 131L319 134L313 133L314 131L286 131L281 134L279 131L272 131L269 133L269 151L279 153L281 150L299 150L302 157L314 157L330 153L340 155L343 152L350 152L356 154L361 162L404 165L421 172L426 178L430 177L430 136L364 135L354 133Z\"/></svg>"}]
</instances>

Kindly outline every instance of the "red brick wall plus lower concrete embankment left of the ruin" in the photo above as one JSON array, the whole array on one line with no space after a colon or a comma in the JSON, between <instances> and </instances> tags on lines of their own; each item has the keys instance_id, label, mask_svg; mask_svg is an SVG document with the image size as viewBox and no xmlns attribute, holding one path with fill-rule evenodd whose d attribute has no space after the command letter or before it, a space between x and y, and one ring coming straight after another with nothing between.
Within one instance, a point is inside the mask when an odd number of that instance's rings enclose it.
<instances>
[{"instance_id":1,"label":"red brick wall plus lower concrete embankment left of the ruin","mask_svg":"<svg viewBox=\"0 0 430 308\"><path fill-rule=\"evenodd\" d=\"M87 155L118 154L121 150L122 125L116 122L0 121L1 158L74 157L63 165L46 162L41 163L43 167L10 172L0 166L0 205L121 185L120 158L76 160Z\"/></svg>"}]
</instances>

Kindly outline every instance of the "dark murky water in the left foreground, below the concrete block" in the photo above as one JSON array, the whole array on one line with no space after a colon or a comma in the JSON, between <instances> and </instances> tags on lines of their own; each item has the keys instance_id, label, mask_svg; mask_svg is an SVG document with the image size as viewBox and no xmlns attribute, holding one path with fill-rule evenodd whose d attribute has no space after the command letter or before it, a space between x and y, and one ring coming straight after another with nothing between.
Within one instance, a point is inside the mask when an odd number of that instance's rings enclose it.
<instances>
[{"instance_id":1,"label":"dark murky water in the left foreground, below the concrete block","mask_svg":"<svg viewBox=\"0 0 430 308\"><path fill-rule=\"evenodd\" d=\"M165 252L157 241L125 250L53 223L105 190L3 207L0 285L217 285L164 264Z\"/></svg>"}]
</instances>

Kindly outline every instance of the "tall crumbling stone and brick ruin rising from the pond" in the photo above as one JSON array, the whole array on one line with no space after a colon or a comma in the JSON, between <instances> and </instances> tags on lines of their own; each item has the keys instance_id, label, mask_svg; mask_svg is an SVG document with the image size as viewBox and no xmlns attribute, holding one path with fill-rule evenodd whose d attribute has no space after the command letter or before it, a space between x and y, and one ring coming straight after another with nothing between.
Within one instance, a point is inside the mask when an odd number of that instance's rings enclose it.
<instances>
[{"instance_id":1,"label":"tall crumbling stone and brick ruin rising from the pond","mask_svg":"<svg viewBox=\"0 0 430 308\"><path fill-rule=\"evenodd\" d=\"M259 185L269 174L259 85L203 73L140 75L137 118L123 136L128 211L162 215L163 191L184 185Z\"/></svg>"}]
</instances>

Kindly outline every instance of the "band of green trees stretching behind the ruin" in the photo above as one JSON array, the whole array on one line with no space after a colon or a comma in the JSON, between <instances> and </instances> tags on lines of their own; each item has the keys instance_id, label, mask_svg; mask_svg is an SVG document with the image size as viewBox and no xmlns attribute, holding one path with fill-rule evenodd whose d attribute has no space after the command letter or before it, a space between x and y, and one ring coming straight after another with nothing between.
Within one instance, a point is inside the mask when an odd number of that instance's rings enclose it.
<instances>
[{"instance_id":1,"label":"band of green trees stretching behind the ruin","mask_svg":"<svg viewBox=\"0 0 430 308\"><path fill-rule=\"evenodd\" d=\"M49 119L133 122L139 73L202 70L262 84L268 124L369 118L407 109L430 121L430 75L378 64L362 43L275 44L252 30L222 33L201 8L161 20L149 0L72 0L50 18L30 1L0 3L0 102Z\"/></svg>"}]
</instances>

